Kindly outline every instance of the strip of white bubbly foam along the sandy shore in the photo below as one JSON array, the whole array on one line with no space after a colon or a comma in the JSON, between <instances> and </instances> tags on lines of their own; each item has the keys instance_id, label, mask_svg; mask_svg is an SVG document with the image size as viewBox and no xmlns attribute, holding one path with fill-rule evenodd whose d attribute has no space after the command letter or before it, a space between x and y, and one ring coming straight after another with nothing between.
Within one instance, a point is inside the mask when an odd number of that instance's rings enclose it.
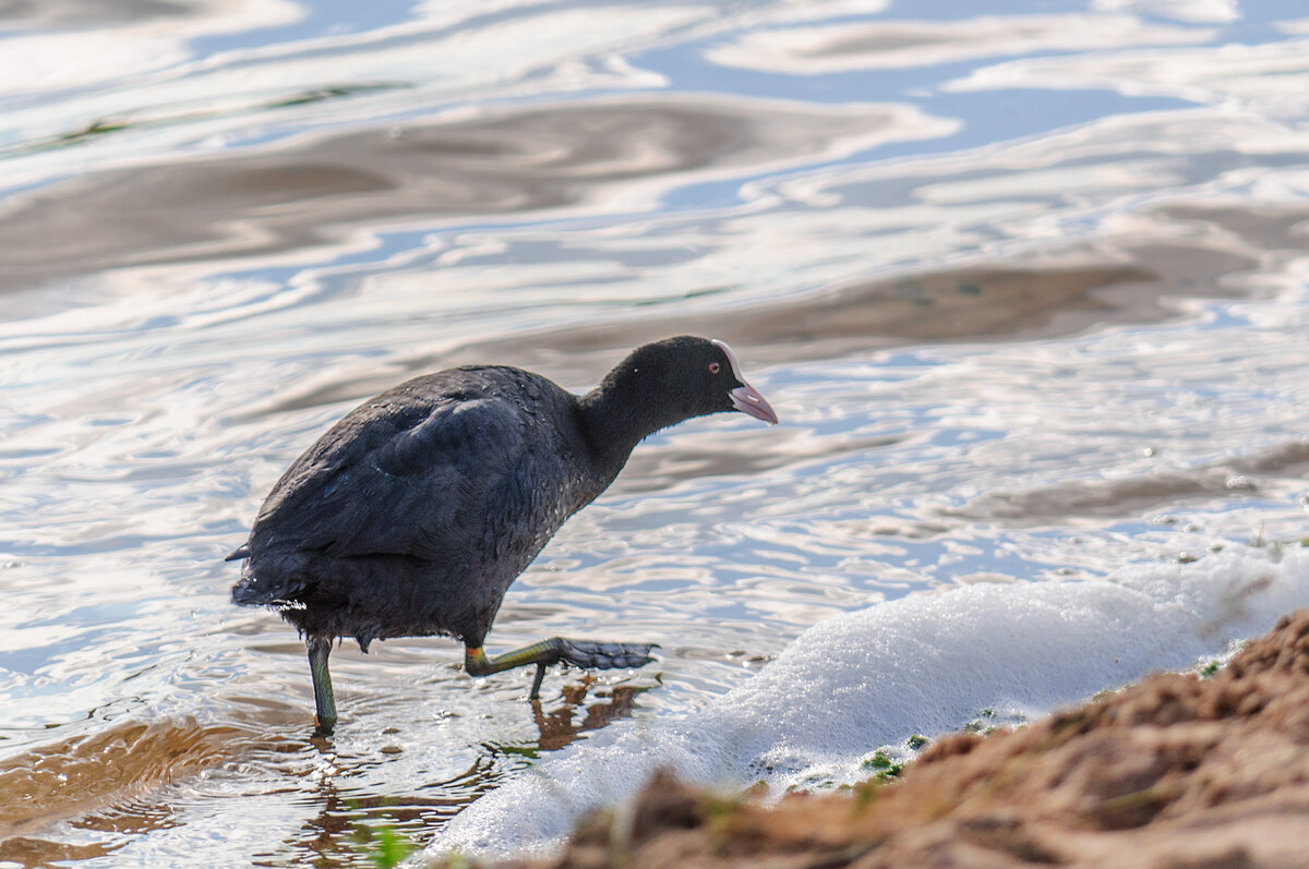
<instances>
[{"instance_id":1,"label":"strip of white bubbly foam along the sandy shore","mask_svg":"<svg viewBox=\"0 0 1309 869\"><path fill-rule=\"evenodd\" d=\"M880 745L956 730L984 708L1041 715L1153 670L1178 670L1309 606L1309 550L1229 547L1110 580L970 585L836 616L692 716L615 725L456 817L435 856L541 856L586 810L660 766L738 788L857 768Z\"/></svg>"}]
</instances>

